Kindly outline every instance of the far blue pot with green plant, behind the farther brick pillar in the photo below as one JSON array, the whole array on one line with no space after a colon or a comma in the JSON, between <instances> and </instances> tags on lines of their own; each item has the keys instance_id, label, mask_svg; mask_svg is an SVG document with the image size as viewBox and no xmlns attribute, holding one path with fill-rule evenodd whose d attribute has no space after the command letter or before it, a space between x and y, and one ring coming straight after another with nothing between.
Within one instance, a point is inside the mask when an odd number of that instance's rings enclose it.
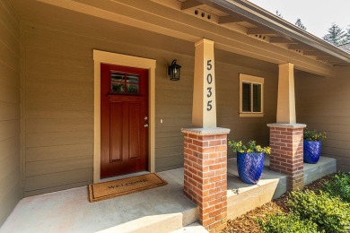
<instances>
[{"instance_id":1,"label":"far blue pot with green plant, behind the farther brick pillar","mask_svg":"<svg viewBox=\"0 0 350 233\"><path fill-rule=\"evenodd\" d=\"M321 153L321 141L326 139L326 132L318 132L316 130L304 130L304 162L317 163Z\"/></svg>"}]
</instances>

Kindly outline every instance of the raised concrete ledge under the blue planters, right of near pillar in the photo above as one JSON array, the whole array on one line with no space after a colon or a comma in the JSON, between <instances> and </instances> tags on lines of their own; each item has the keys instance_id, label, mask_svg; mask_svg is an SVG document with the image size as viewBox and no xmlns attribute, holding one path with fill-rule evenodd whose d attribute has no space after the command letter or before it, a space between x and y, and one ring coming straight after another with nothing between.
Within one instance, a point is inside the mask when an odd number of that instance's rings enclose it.
<instances>
[{"instance_id":1,"label":"raised concrete ledge under the blue planters, right of near pillar","mask_svg":"<svg viewBox=\"0 0 350 233\"><path fill-rule=\"evenodd\" d=\"M227 211L228 219L235 219L270 202L287 191L286 176L271 171L269 157L265 157L264 171L257 185L248 185L238 177L236 158L228 160ZM304 184L337 172L337 160L321 156L317 164L304 163Z\"/></svg>"}]
</instances>

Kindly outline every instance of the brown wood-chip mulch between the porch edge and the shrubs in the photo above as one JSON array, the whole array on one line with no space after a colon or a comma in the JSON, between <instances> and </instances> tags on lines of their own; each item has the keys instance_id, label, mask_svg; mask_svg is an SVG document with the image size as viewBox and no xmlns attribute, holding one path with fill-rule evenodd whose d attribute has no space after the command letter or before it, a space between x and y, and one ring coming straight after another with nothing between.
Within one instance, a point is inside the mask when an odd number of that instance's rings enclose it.
<instances>
[{"instance_id":1,"label":"brown wood-chip mulch between the porch edge and the shrubs","mask_svg":"<svg viewBox=\"0 0 350 233\"><path fill-rule=\"evenodd\" d=\"M309 189L313 190L315 192L319 191L320 187L323 183L327 182L330 177L333 177L334 175L329 175L327 177L322 177L313 183L311 183L308 186L305 186L303 190ZM263 232L258 222L256 221L257 218L264 219L268 214L275 213L278 211L283 211L285 213L289 212L288 207L286 206L288 199L288 193L283 194L281 197L266 203L252 211L247 212L246 214L242 215L241 217L234 219L234 220L228 220L227 221L227 227L223 229L221 232L247 232L247 233L260 233Z\"/></svg>"}]
</instances>

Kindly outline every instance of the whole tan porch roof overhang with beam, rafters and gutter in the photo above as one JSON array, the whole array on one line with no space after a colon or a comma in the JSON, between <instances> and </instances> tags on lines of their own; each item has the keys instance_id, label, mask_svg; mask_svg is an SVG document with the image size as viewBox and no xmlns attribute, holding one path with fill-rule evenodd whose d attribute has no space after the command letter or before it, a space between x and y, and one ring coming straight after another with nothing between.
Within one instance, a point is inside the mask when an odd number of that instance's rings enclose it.
<instances>
[{"instance_id":1,"label":"whole tan porch roof overhang with beam, rafters and gutter","mask_svg":"<svg viewBox=\"0 0 350 233\"><path fill-rule=\"evenodd\" d=\"M334 65L349 65L350 56L277 16L236 0L12 0L24 19L39 13L57 15L57 7L95 18L149 30L174 39L211 39L215 47L273 64L333 76ZM50 5L45 11L38 6ZM45 19L46 17L42 17ZM71 19L74 21L74 17Z\"/></svg>"}]
</instances>

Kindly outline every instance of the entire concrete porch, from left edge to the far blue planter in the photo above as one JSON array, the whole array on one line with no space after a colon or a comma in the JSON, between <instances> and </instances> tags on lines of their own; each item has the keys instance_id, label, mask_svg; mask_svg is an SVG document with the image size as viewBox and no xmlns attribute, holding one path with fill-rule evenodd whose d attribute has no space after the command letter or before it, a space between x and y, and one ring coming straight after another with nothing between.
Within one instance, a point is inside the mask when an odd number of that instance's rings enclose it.
<instances>
[{"instance_id":1,"label":"entire concrete porch, from left edge to the far blue planter","mask_svg":"<svg viewBox=\"0 0 350 233\"><path fill-rule=\"evenodd\" d=\"M252 186L237 177L236 159L228 160L229 219L285 192L285 176L268 164L267 157L263 176ZM336 171L335 159L321 157L316 165L304 165L305 183ZM183 194L183 168L159 174L167 186L97 203L89 203L86 186L24 198L0 232L206 232L196 224L197 206Z\"/></svg>"}]
</instances>

